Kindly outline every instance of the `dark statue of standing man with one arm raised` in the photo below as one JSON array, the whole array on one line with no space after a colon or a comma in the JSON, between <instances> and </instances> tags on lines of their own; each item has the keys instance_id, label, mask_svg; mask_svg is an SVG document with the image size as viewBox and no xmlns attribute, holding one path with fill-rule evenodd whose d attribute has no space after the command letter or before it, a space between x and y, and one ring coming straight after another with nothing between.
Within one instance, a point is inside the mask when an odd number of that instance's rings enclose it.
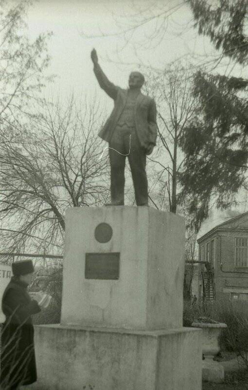
<instances>
[{"instance_id":1,"label":"dark statue of standing man with one arm raised","mask_svg":"<svg viewBox=\"0 0 248 390\"><path fill-rule=\"evenodd\" d=\"M114 100L114 109L99 137L109 143L111 170L111 205L124 205L124 168L128 157L137 206L148 206L146 155L156 145L156 104L141 93L144 77L140 72L129 76L128 89L108 80L98 63L95 49L91 51L94 73L101 88Z\"/></svg>"}]
</instances>

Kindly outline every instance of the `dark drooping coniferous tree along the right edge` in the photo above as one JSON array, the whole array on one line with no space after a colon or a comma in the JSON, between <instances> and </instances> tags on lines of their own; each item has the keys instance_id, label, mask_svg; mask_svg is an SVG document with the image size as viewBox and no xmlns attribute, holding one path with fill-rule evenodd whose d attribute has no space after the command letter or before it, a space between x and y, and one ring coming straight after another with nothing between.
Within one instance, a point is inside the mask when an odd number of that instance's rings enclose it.
<instances>
[{"instance_id":1,"label":"dark drooping coniferous tree along the right edge","mask_svg":"<svg viewBox=\"0 0 248 390\"><path fill-rule=\"evenodd\" d=\"M191 1L199 34L210 36L223 57L247 65L245 35L248 4L245 1ZM198 71L194 94L199 108L184 131L181 147L186 155L181 198L190 197L189 211L199 228L208 216L211 197L216 207L235 203L246 186L248 169L248 80Z\"/></svg>"}]
</instances>

